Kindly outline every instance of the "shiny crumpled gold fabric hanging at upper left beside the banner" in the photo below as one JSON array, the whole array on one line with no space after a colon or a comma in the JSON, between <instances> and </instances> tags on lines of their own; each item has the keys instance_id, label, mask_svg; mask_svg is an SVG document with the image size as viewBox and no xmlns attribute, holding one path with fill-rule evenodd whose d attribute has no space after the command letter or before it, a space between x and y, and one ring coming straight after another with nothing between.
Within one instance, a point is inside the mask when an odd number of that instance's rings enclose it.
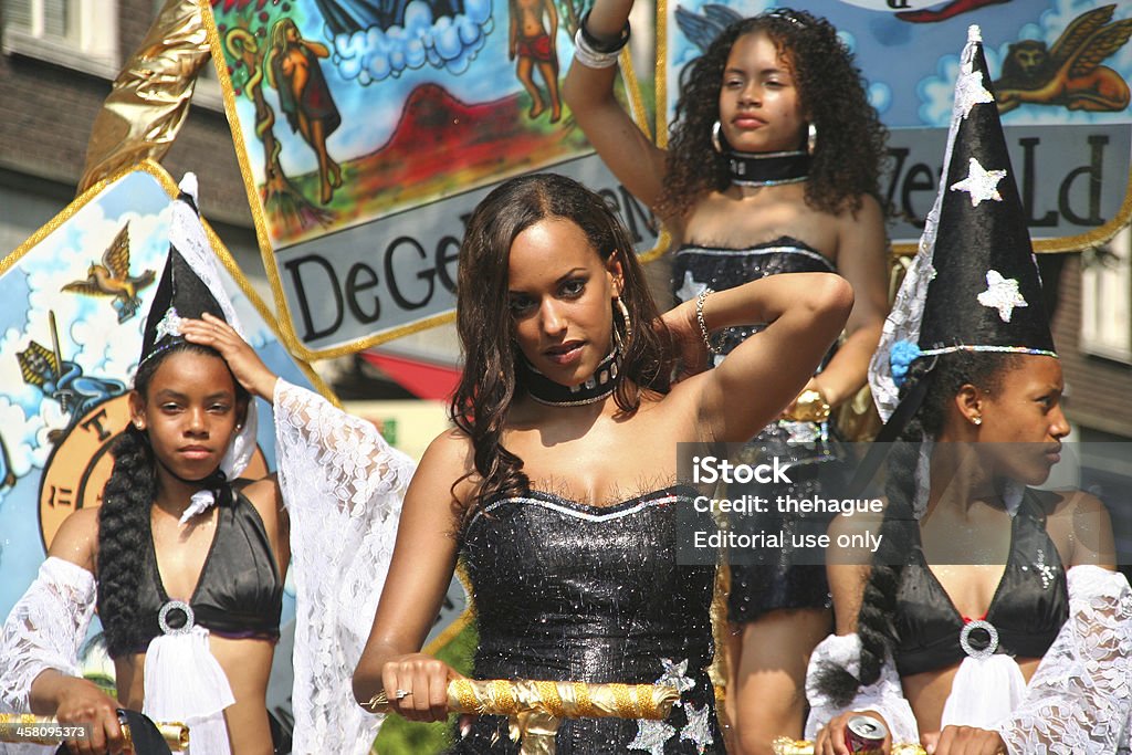
<instances>
[{"instance_id":1,"label":"shiny crumpled gold fabric hanging at upper left beside the banner","mask_svg":"<svg viewBox=\"0 0 1132 755\"><path fill-rule=\"evenodd\" d=\"M195 0L166 0L94 120L78 194L145 158L165 156L208 54Z\"/></svg>"}]
</instances>

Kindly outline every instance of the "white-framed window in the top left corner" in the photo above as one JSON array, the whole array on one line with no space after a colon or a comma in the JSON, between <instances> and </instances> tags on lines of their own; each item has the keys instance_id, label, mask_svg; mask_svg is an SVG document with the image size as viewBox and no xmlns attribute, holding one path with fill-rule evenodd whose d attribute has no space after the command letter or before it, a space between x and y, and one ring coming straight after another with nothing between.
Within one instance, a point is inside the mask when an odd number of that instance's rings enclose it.
<instances>
[{"instance_id":1,"label":"white-framed window in the top left corner","mask_svg":"<svg viewBox=\"0 0 1132 755\"><path fill-rule=\"evenodd\" d=\"M117 76L117 0L0 0L0 7L6 54Z\"/></svg>"}]
</instances>

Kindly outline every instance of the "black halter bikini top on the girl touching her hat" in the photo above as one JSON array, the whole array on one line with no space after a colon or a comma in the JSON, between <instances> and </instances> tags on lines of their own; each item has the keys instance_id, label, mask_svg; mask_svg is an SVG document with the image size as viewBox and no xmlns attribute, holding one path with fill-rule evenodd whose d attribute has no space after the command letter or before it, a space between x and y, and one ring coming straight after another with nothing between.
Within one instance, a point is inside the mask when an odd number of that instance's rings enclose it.
<instances>
[{"instance_id":1,"label":"black halter bikini top on the girl touching her hat","mask_svg":"<svg viewBox=\"0 0 1132 755\"><path fill-rule=\"evenodd\" d=\"M229 503L217 506L213 543L189 600L194 623L223 637L278 640L283 581L263 520L242 494L233 491L225 498ZM163 609L165 624L173 629L181 628L186 617L175 603L165 608L170 598L161 582L153 535L147 534L138 589L143 643L134 649L138 653L162 634Z\"/></svg>"}]
</instances>

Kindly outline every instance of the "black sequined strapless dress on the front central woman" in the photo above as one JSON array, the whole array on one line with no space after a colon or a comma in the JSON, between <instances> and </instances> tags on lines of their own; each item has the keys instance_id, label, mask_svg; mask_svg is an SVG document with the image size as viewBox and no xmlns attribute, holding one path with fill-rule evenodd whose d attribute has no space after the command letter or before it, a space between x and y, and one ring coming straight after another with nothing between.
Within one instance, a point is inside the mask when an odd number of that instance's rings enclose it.
<instances>
[{"instance_id":1,"label":"black sequined strapless dress on the front central woman","mask_svg":"<svg viewBox=\"0 0 1132 755\"><path fill-rule=\"evenodd\" d=\"M707 678L714 566L676 563L676 486L612 506L532 491L497 499L469 523L478 679L668 684L664 721L577 719L558 755L723 753ZM458 737L457 737L458 739ZM501 717L480 717L455 753L517 753Z\"/></svg>"}]
</instances>

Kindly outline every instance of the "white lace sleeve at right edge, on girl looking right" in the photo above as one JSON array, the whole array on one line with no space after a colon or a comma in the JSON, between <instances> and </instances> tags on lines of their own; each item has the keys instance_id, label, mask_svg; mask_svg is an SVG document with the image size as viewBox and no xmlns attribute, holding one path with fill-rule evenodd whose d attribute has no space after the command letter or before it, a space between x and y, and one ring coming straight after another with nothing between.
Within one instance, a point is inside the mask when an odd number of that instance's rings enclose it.
<instances>
[{"instance_id":1,"label":"white lace sleeve at right edge, on girl looking right","mask_svg":"<svg viewBox=\"0 0 1132 755\"><path fill-rule=\"evenodd\" d=\"M1115 753L1132 712L1132 591L1123 574L1075 566L1069 620L1001 727L1013 755Z\"/></svg>"}]
</instances>

